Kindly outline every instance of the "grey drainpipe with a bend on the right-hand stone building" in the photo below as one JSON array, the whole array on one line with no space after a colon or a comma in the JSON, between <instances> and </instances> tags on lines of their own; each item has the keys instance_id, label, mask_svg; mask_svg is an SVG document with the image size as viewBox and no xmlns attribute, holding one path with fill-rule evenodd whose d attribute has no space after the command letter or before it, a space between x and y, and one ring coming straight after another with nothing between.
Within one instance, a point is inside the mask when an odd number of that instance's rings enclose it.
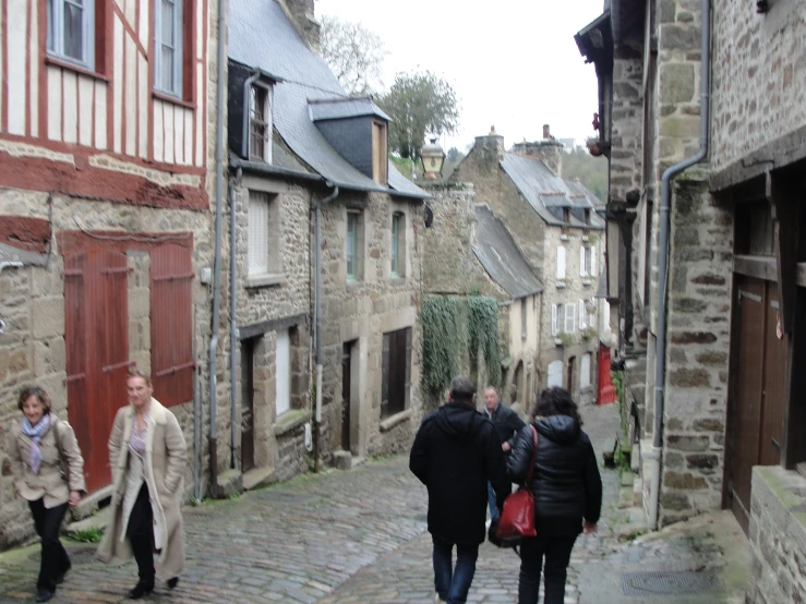
<instances>
[{"instance_id":1,"label":"grey drainpipe with a bend on the right-hand stone building","mask_svg":"<svg viewBox=\"0 0 806 604\"><path fill-rule=\"evenodd\" d=\"M658 324L655 334L655 360L654 360L654 440L650 452L650 492L649 492L649 528L658 529L658 499L660 496L661 482L661 454L663 451L663 390L666 373L666 287L669 280L669 231L670 209L672 204L672 185L674 177L702 161L708 155L708 116L709 116L709 90L711 69L711 2L702 0L702 48L701 48L701 75L700 75L700 147L697 155L689 157L672 166L663 172L661 181L661 225L658 258Z\"/></svg>"}]
</instances>

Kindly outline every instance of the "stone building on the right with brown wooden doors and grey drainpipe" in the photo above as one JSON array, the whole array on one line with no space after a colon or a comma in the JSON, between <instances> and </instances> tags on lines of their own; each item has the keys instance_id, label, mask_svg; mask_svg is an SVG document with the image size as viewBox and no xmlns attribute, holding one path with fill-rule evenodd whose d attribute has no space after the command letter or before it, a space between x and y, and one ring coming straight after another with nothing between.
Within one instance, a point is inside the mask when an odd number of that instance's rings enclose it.
<instances>
[{"instance_id":1,"label":"stone building on the right with brown wooden doors and grey drainpipe","mask_svg":"<svg viewBox=\"0 0 806 604\"><path fill-rule=\"evenodd\" d=\"M753 603L806 592L804 23L786 0L611 0L577 35L600 80L649 522L732 509Z\"/></svg>"}]
</instances>

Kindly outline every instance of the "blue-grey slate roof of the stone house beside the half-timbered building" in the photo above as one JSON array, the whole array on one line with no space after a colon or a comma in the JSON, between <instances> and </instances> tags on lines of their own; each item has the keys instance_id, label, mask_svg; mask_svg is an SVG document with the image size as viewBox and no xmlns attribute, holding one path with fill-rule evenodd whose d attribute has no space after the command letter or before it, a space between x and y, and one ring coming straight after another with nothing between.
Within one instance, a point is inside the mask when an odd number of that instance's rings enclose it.
<instances>
[{"instance_id":1,"label":"blue-grey slate roof of the stone house beside the half-timbered building","mask_svg":"<svg viewBox=\"0 0 806 604\"><path fill-rule=\"evenodd\" d=\"M388 164L389 188L361 173L318 131L309 101L349 100L327 64L312 52L276 0L230 0L229 58L275 75L274 125L289 148L342 189L429 197Z\"/></svg>"}]
</instances>

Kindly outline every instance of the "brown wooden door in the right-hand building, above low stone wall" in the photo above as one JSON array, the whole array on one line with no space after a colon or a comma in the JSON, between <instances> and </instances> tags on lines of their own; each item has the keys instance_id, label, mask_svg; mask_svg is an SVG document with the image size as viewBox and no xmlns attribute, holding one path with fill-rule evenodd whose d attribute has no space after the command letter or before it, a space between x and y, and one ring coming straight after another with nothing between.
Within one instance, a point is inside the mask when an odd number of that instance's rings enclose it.
<instances>
[{"instance_id":1,"label":"brown wooden door in the right-hand building, above low stone wall","mask_svg":"<svg viewBox=\"0 0 806 604\"><path fill-rule=\"evenodd\" d=\"M735 291L727 495L747 532L753 467L780 462L785 345L777 334L777 285L737 275Z\"/></svg>"}]
</instances>

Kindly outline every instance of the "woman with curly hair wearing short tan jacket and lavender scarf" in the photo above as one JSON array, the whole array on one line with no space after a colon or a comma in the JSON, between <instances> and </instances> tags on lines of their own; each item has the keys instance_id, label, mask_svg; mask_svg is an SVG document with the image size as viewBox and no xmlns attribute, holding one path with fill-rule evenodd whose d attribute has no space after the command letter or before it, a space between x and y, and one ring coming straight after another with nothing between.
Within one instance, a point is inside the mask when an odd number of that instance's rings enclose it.
<instances>
[{"instance_id":1,"label":"woman with curly hair wearing short tan jacket and lavender scarf","mask_svg":"<svg viewBox=\"0 0 806 604\"><path fill-rule=\"evenodd\" d=\"M73 428L50 412L43 388L23 388L16 406L24 416L11 428L8 455L14 490L27 499L41 540L36 601L47 602L72 566L59 529L68 505L76 505L85 492L84 459Z\"/></svg>"}]
</instances>

